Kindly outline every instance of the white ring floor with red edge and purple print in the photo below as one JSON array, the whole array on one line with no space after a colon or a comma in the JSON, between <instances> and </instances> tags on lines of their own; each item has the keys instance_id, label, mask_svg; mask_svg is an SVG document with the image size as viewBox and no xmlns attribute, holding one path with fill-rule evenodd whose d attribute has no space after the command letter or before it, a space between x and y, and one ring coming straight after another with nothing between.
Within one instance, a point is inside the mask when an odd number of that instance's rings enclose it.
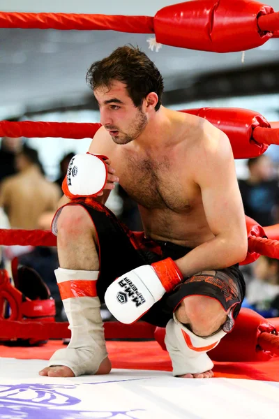
<instances>
[{"instance_id":1,"label":"white ring floor with red edge and purple print","mask_svg":"<svg viewBox=\"0 0 279 419\"><path fill-rule=\"evenodd\" d=\"M60 341L0 346L0 419L278 418L279 357L217 362L215 378L185 379L172 377L156 342L108 341L107 347L111 374L50 378L38 371Z\"/></svg>"}]
</instances>

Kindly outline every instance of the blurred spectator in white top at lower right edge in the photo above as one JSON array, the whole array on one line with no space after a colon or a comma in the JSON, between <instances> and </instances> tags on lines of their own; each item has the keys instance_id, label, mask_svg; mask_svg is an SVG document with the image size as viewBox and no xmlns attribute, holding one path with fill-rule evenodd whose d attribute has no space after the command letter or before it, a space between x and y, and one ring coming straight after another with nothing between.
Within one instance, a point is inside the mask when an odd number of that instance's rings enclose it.
<instances>
[{"instance_id":1,"label":"blurred spectator in white top at lower right edge","mask_svg":"<svg viewBox=\"0 0 279 419\"><path fill-rule=\"evenodd\" d=\"M243 307L255 309L265 317L279 316L279 260L260 256L252 264L254 279L246 288Z\"/></svg>"}]
</instances>

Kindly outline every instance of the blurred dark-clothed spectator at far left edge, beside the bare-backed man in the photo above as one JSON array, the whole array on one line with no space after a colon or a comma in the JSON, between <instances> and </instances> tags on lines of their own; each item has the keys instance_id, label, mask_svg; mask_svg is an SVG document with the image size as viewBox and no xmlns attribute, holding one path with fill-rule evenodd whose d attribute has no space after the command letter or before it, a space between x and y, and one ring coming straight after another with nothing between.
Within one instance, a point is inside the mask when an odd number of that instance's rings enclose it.
<instances>
[{"instance_id":1,"label":"blurred dark-clothed spectator at far left edge, beside the bare-backed man","mask_svg":"<svg viewBox=\"0 0 279 419\"><path fill-rule=\"evenodd\" d=\"M22 148L22 138L3 137L0 147L0 182L7 176L15 175L15 156Z\"/></svg>"}]
</instances>

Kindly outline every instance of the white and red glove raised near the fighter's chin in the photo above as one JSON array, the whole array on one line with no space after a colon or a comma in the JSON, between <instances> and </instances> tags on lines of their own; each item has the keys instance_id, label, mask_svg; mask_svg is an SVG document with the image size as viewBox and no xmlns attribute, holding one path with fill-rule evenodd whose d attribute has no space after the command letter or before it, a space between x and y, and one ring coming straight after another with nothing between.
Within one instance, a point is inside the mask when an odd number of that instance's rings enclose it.
<instances>
[{"instance_id":1,"label":"white and red glove raised near the fighter's chin","mask_svg":"<svg viewBox=\"0 0 279 419\"><path fill-rule=\"evenodd\" d=\"M63 193L70 199L96 196L107 182L107 159L91 153L73 156L63 180Z\"/></svg>"}]
</instances>

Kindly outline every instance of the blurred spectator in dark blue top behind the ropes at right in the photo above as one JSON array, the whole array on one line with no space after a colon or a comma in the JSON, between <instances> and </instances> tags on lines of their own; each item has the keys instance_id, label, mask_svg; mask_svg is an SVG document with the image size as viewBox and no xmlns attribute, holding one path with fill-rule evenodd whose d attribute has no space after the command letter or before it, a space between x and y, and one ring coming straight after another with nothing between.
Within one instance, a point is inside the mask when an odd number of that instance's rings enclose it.
<instances>
[{"instance_id":1,"label":"blurred spectator in dark blue top behind the ropes at right","mask_svg":"<svg viewBox=\"0 0 279 419\"><path fill-rule=\"evenodd\" d=\"M249 177L239 180L246 215L261 226L278 222L279 187L269 156L248 160Z\"/></svg>"}]
</instances>

